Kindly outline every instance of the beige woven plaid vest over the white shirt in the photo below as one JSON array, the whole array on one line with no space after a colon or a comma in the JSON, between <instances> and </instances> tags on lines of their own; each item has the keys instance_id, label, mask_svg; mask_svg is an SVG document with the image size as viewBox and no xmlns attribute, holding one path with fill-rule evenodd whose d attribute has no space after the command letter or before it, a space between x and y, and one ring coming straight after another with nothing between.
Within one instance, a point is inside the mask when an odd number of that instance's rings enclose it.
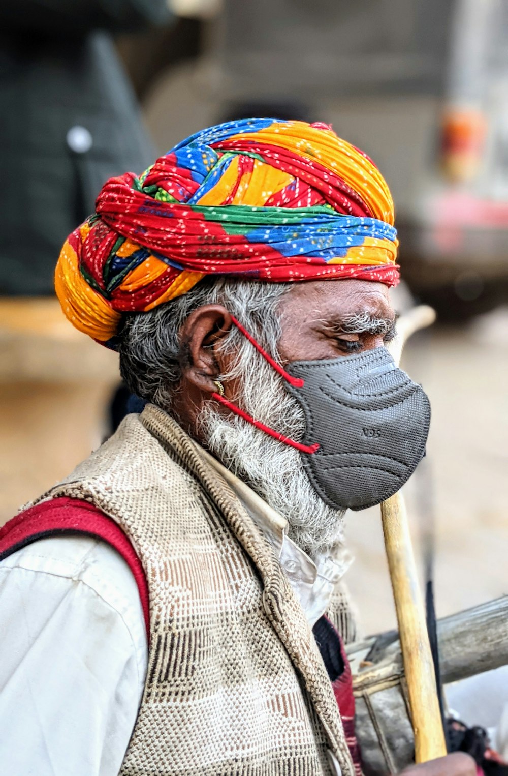
<instances>
[{"instance_id":1,"label":"beige woven plaid vest over the white shirt","mask_svg":"<svg viewBox=\"0 0 508 776\"><path fill-rule=\"evenodd\" d=\"M129 536L150 591L147 681L122 776L354 776L337 703L278 559L225 481L149 405L47 496Z\"/></svg>"}]
</instances>

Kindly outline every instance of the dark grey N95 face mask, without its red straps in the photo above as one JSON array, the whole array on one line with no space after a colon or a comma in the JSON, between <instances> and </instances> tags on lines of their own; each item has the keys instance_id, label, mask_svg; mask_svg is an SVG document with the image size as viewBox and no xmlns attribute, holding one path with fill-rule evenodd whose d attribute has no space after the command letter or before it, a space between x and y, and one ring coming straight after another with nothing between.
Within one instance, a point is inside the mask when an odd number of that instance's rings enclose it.
<instances>
[{"instance_id":1,"label":"dark grey N95 face mask, without its red straps","mask_svg":"<svg viewBox=\"0 0 508 776\"><path fill-rule=\"evenodd\" d=\"M425 453L430 404L386 348L286 367L302 386L285 383L306 418L302 462L330 507L380 504L409 480Z\"/></svg>"}]
</instances>

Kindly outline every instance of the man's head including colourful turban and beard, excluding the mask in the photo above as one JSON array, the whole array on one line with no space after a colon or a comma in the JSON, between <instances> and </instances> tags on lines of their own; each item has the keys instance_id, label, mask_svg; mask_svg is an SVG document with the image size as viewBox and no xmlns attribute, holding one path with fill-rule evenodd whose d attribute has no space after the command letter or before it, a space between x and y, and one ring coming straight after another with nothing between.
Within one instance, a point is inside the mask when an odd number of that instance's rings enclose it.
<instances>
[{"instance_id":1,"label":"man's head including colourful turban and beard, excluding the mask","mask_svg":"<svg viewBox=\"0 0 508 776\"><path fill-rule=\"evenodd\" d=\"M64 313L119 349L138 395L174 414L289 519L306 549L333 542L337 509L299 452L230 413L298 441L308 419L279 365L382 346L398 281L389 189L329 126L278 120L203 130L140 178L105 184L62 249Z\"/></svg>"}]
</instances>

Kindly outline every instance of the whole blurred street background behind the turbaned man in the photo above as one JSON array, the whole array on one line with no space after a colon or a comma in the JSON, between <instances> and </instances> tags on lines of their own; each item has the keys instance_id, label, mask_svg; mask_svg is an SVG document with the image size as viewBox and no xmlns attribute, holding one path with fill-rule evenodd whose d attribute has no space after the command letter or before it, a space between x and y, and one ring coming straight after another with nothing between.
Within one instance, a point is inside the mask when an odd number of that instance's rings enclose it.
<instances>
[{"instance_id":1,"label":"whole blurred street background behind the turbaned man","mask_svg":"<svg viewBox=\"0 0 508 776\"><path fill-rule=\"evenodd\" d=\"M433 406L406 490L438 615L508 592L508 0L2 0L0 522L109 433L116 356L64 321L60 245L110 175L244 116L331 123L396 202L403 366ZM395 614L379 511L354 513L365 632Z\"/></svg>"}]
</instances>

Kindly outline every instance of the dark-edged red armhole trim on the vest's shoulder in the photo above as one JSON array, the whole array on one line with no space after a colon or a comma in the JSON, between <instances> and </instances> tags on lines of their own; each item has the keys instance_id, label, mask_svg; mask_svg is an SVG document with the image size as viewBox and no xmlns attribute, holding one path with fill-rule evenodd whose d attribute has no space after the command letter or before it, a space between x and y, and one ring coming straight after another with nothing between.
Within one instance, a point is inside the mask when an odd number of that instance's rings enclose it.
<instances>
[{"instance_id":1,"label":"dark-edged red armhole trim on the vest's shoulder","mask_svg":"<svg viewBox=\"0 0 508 776\"><path fill-rule=\"evenodd\" d=\"M38 539L76 535L102 539L123 557L136 580L150 640L150 598L143 565L122 528L93 504L58 497L20 512L0 528L0 561Z\"/></svg>"}]
</instances>

